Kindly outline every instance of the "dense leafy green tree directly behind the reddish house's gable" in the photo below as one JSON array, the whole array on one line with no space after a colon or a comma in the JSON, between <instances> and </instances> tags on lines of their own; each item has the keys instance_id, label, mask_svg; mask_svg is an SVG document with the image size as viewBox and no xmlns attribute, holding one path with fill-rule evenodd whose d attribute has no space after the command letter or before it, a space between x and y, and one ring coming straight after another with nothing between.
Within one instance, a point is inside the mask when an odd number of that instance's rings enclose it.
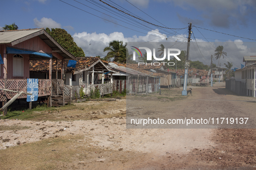
<instances>
[{"instance_id":1,"label":"dense leafy green tree directly behind the reddish house's gable","mask_svg":"<svg viewBox=\"0 0 256 170\"><path fill-rule=\"evenodd\" d=\"M49 28L46 28L45 31L75 57L85 57L83 49L78 47L72 36L65 29L52 28L51 31Z\"/></svg>"}]
</instances>

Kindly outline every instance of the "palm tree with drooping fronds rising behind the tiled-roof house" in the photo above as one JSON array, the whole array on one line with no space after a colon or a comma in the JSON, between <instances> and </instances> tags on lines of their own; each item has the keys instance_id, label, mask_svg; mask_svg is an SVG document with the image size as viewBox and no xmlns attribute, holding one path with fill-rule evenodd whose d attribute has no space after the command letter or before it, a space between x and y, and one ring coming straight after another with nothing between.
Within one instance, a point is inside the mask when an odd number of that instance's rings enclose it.
<instances>
[{"instance_id":1,"label":"palm tree with drooping fronds rising behind the tiled-roof house","mask_svg":"<svg viewBox=\"0 0 256 170\"><path fill-rule=\"evenodd\" d=\"M104 52L108 51L107 56L104 57L104 60L110 60L113 58L113 61L125 63L126 62L126 45L123 45L123 41L110 41L109 47L104 48Z\"/></svg>"}]
</instances>

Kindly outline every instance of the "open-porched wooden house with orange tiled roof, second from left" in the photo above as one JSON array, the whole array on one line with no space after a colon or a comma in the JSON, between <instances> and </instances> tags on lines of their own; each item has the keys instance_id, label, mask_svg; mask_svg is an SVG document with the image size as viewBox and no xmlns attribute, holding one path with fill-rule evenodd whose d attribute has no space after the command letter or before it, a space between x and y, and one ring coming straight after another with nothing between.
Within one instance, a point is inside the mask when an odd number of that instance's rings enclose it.
<instances>
[{"instance_id":1,"label":"open-porched wooden house with orange tiled roof, second from left","mask_svg":"<svg viewBox=\"0 0 256 170\"><path fill-rule=\"evenodd\" d=\"M66 64L67 65L67 62ZM30 61L30 76L41 77L42 79L49 79L49 61ZM52 68L56 73L58 69L58 74L60 71L60 63L56 65L56 62L53 62ZM79 57L76 63L75 68L65 66L65 79L64 84L69 88L74 89L72 93L72 98L79 98L80 95L78 91L83 87L84 93L89 95L90 87L94 86L111 86L106 85L106 83L112 83L111 75L117 73L109 69L98 57ZM110 80L104 82L104 76L106 73L110 74ZM57 74L53 74L54 78ZM55 76L56 75L56 76ZM58 78L58 76L57 76ZM105 83L105 84L104 84ZM102 88L103 89L103 88ZM112 93L111 91L101 91L102 95ZM77 93L77 94L75 94Z\"/></svg>"}]
</instances>

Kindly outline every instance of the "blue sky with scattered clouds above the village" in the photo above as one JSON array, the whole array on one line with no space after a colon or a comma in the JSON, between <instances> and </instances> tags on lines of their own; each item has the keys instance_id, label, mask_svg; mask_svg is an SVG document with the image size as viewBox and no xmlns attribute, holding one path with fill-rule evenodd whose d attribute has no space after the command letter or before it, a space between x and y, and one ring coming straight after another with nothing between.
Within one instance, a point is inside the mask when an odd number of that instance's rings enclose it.
<instances>
[{"instance_id":1,"label":"blue sky with scattered clouds above the village","mask_svg":"<svg viewBox=\"0 0 256 170\"><path fill-rule=\"evenodd\" d=\"M63 28L91 57L106 56L103 49L113 40L184 46L189 22L192 61L210 65L218 45L227 52L221 66L232 62L240 68L243 56L256 56L255 0L5 0L0 11L0 29L13 22L19 29Z\"/></svg>"}]
</instances>

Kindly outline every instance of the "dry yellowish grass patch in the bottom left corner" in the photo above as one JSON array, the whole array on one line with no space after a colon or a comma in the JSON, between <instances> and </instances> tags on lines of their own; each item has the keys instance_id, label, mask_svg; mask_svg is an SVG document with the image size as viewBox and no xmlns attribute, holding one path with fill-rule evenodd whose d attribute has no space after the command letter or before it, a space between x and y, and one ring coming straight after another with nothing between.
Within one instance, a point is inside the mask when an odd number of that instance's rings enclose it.
<instances>
[{"instance_id":1,"label":"dry yellowish grass patch in the bottom left corner","mask_svg":"<svg viewBox=\"0 0 256 170\"><path fill-rule=\"evenodd\" d=\"M1 170L55 170L59 162L71 162L79 152L77 140L82 136L68 135L15 146L0 151Z\"/></svg>"}]
</instances>

